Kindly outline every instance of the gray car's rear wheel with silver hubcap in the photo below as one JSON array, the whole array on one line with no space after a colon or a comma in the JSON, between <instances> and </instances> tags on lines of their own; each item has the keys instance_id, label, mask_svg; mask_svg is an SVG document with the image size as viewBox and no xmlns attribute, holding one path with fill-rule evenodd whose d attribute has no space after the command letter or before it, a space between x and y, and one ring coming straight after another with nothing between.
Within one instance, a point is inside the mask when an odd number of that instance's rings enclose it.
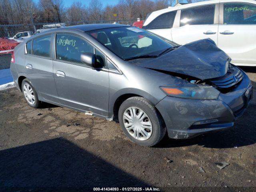
<instances>
[{"instance_id":1,"label":"gray car's rear wheel with silver hubcap","mask_svg":"<svg viewBox=\"0 0 256 192\"><path fill-rule=\"evenodd\" d=\"M22 93L28 105L33 108L39 108L41 102L38 100L36 90L28 79L22 81Z\"/></svg>"}]
</instances>

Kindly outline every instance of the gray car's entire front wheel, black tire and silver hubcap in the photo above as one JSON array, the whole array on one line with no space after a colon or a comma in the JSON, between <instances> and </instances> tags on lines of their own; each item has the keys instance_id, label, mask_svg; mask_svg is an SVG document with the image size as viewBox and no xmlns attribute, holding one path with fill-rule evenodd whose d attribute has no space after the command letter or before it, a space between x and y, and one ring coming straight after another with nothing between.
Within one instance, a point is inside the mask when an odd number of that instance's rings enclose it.
<instances>
[{"instance_id":1,"label":"gray car's entire front wheel, black tire and silver hubcap","mask_svg":"<svg viewBox=\"0 0 256 192\"><path fill-rule=\"evenodd\" d=\"M166 134L160 114L142 97L125 100L119 108L118 119L126 136L142 146L154 146Z\"/></svg>"}]
</instances>

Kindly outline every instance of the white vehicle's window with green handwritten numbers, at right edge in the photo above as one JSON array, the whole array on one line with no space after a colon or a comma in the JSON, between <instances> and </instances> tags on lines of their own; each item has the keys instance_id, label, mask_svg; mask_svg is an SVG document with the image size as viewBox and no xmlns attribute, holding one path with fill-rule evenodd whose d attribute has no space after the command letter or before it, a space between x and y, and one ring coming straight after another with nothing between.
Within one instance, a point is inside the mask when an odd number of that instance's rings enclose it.
<instances>
[{"instance_id":1,"label":"white vehicle's window with green handwritten numbers, at right edge","mask_svg":"<svg viewBox=\"0 0 256 192\"><path fill-rule=\"evenodd\" d=\"M256 24L256 6L224 4L224 24Z\"/></svg>"}]
</instances>

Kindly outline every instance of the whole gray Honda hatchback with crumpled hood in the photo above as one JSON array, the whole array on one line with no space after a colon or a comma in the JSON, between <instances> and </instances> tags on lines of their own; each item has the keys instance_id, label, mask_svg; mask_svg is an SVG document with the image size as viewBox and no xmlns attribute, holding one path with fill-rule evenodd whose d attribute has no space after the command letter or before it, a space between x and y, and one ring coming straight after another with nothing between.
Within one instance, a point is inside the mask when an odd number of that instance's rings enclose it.
<instances>
[{"instance_id":1,"label":"whole gray Honda hatchback with crumpled hood","mask_svg":"<svg viewBox=\"0 0 256 192\"><path fill-rule=\"evenodd\" d=\"M212 40L178 46L120 24L36 34L16 46L10 69L30 106L42 101L119 120L143 146L166 132L187 139L225 130L252 99L247 74Z\"/></svg>"}]
</instances>

